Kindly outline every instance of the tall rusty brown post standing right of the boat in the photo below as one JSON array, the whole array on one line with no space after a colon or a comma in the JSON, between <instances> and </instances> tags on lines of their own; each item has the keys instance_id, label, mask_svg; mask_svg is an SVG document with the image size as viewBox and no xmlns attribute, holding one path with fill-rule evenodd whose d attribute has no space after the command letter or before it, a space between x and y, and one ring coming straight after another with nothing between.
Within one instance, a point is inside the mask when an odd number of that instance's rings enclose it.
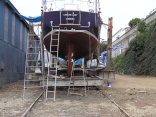
<instances>
[{"instance_id":1,"label":"tall rusty brown post standing right of the boat","mask_svg":"<svg viewBox=\"0 0 156 117\"><path fill-rule=\"evenodd\" d=\"M112 55L112 20L113 18L110 17L108 18L108 44L107 44L107 66L106 70L110 70L110 65L111 65L111 55Z\"/></svg>"}]
</instances>

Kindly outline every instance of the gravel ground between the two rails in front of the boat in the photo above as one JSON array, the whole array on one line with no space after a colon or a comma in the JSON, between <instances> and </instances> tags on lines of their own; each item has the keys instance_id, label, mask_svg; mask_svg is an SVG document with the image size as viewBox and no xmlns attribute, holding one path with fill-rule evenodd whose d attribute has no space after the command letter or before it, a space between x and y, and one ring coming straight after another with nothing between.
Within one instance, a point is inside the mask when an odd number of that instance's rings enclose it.
<instances>
[{"instance_id":1,"label":"gravel ground between the two rails in front of the boat","mask_svg":"<svg viewBox=\"0 0 156 117\"><path fill-rule=\"evenodd\" d=\"M100 91L89 90L87 96L57 93L56 102L39 101L28 117L125 117Z\"/></svg>"}]
</instances>

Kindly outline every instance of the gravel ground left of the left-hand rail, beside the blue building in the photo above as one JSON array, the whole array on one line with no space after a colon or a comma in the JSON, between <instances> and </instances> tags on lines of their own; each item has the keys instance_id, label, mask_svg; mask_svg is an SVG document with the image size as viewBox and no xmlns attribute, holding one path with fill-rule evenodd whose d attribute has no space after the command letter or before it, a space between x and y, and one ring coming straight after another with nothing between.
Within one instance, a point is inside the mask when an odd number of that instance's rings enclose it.
<instances>
[{"instance_id":1,"label":"gravel ground left of the left-hand rail, beside the blue building","mask_svg":"<svg viewBox=\"0 0 156 117\"><path fill-rule=\"evenodd\" d=\"M1 87L0 117L20 117L41 92L41 89L28 89L23 99L22 81Z\"/></svg>"}]
</instances>

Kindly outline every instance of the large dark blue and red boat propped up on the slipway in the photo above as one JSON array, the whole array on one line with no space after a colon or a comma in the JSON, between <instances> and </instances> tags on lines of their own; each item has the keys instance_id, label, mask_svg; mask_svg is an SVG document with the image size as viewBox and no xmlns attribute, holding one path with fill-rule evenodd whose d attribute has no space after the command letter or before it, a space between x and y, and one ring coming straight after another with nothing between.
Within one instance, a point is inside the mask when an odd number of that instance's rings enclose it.
<instances>
[{"instance_id":1,"label":"large dark blue and red boat propped up on the slipway","mask_svg":"<svg viewBox=\"0 0 156 117\"><path fill-rule=\"evenodd\" d=\"M57 44L55 39L59 34L58 57L71 61L88 56L96 50L99 15L96 9L90 9L97 8L97 0L70 0L70 2L67 0L68 3L65 1L59 1L59 4L60 2L64 4L63 8L59 10L50 8L43 12L42 36L46 50L57 56L57 47L50 47L50 43L52 40L52 43ZM56 2L57 0L53 0L53 4L56 5ZM87 11L80 9L80 2L86 3ZM71 65L72 63L68 62L70 68Z\"/></svg>"}]
</instances>

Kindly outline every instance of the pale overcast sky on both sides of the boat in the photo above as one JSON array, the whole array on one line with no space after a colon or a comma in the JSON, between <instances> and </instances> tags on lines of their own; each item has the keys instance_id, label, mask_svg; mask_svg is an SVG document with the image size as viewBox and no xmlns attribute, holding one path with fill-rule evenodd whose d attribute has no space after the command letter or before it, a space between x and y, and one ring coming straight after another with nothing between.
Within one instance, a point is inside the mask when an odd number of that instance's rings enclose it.
<instances>
[{"instance_id":1,"label":"pale overcast sky on both sides of the boat","mask_svg":"<svg viewBox=\"0 0 156 117\"><path fill-rule=\"evenodd\" d=\"M40 16L42 0L10 0L20 14ZM155 9L156 0L100 0L101 17L104 23L113 17L113 34L119 29L128 27L133 18L146 18ZM107 27L106 27L107 28ZM107 40L107 29L102 28L101 38Z\"/></svg>"}]
</instances>

